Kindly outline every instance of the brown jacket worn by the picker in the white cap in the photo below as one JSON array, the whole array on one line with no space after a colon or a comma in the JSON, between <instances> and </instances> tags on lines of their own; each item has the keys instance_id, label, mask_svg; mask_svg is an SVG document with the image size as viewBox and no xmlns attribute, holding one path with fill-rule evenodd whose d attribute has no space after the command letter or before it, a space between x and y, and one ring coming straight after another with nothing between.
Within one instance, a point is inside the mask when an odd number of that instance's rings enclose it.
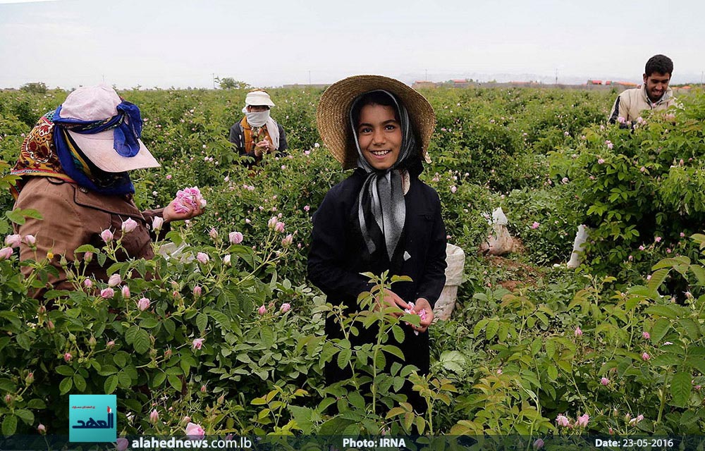
<instances>
[{"instance_id":1,"label":"brown jacket worn by the picker in the white cap","mask_svg":"<svg viewBox=\"0 0 705 451\"><path fill-rule=\"evenodd\" d=\"M49 283L57 290L73 290L71 281L67 280L66 272L59 264L60 256L66 257L69 264L75 261L73 251L80 245L93 245L100 249L104 242L100 237L102 230L109 229L114 233L115 240L122 236L121 225L127 218L137 221L137 228L125 234L122 246L125 252L118 254L118 259L154 257L152 252L152 228L154 216L161 216L164 209L140 212L135 206L131 195L106 196L90 192L83 187L67 183L57 178L32 177L23 187L15 202L15 209L35 209L42 214L43 219L27 218L27 222L18 226L15 233L25 237L34 235L36 249L30 249L24 240L20 245L20 260L42 260L47 253L54 254L51 265L59 270L59 276L49 276ZM82 255L79 256L82 258ZM106 267L99 265L93 259L87 265L86 276L98 280L107 280L106 268L111 261L106 261ZM25 277L30 276L32 267L22 266ZM44 289L33 294L43 295Z\"/></svg>"}]
</instances>

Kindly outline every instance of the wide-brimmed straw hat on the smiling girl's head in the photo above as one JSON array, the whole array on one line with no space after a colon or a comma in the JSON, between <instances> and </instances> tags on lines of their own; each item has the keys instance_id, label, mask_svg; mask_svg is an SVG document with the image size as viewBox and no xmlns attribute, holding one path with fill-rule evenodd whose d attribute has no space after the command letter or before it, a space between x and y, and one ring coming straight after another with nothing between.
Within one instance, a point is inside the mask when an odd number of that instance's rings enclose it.
<instances>
[{"instance_id":1,"label":"wide-brimmed straw hat on the smiling girl's head","mask_svg":"<svg viewBox=\"0 0 705 451\"><path fill-rule=\"evenodd\" d=\"M357 149L350 125L350 107L358 96L376 89L394 94L406 106L412 128L427 158L431 134L436 126L434 109L424 96L399 80L381 75L354 75L333 83L321 96L316 121L321 139L343 169L357 167Z\"/></svg>"}]
</instances>

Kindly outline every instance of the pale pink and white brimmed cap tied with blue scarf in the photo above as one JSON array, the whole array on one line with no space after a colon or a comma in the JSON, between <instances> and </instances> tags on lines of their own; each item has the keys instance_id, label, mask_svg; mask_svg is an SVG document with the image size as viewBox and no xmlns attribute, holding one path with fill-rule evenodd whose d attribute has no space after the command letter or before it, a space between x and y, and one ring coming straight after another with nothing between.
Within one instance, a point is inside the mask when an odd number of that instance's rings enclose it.
<instances>
[{"instance_id":1,"label":"pale pink and white brimmed cap tied with blue scarf","mask_svg":"<svg viewBox=\"0 0 705 451\"><path fill-rule=\"evenodd\" d=\"M116 107L122 100L115 89L106 85L80 87L68 94L61 104L61 118L79 121L102 121L118 114ZM95 166L106 172L124 172L133 169L158 168L159 162L149 153L142 140L140 151L134 156L122 156L114 148L114 130L92 135L72 132L68 134Z\"/></svg>"}]
</instances>

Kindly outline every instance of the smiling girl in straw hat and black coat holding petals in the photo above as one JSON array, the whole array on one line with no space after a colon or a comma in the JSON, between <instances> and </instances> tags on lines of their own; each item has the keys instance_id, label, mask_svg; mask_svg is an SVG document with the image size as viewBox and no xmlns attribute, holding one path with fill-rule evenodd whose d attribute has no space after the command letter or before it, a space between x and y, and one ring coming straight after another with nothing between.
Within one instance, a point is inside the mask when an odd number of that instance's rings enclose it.
<instances>
[{"instance_id":1,"label":"smiling girl in straw hat and black coat holding petals","mask_svg":"<svg viewBox=\"0 0 705 451\"><path fill-rule=\"evenodd\" d=\"M357 297L372 289L360 273L409 276L386 290L398 314L421 317L400 344L405 364L429 371L429 335L433 306L446 281L446 229L438 194L418 176L435 124L434 111L421 94L391 78L360 75L334 83L321 97L319 132L343 168L355 168L333 187L313 217L308 272L333 304L357 311ZM339 326L326 320L329 338L341 338ZM370 342L363 331L353 345ZM388 364L389 366L389 364ZM334 362L326 381L350 377ZM405 390L414 407L423 400Z\"/></svg>"}]
</instances>

